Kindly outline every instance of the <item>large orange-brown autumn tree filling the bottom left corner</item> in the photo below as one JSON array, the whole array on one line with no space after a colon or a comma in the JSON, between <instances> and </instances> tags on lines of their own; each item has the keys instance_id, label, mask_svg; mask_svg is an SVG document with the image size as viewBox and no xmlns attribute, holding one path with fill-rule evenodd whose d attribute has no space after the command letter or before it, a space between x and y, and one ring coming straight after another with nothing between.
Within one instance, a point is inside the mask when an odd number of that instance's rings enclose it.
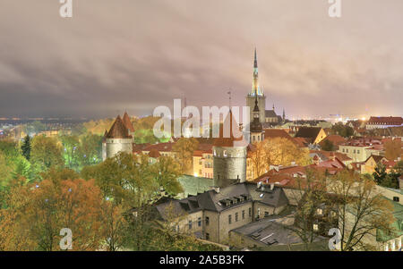
<instances>
[{"instance_id":1,"label":"large orange-brown autumn tree filling the bottom left corner","mask_svg":"<svg viewBox=\"0 0 403 269\"><path fill-rule=\"evenodd\" d=\"M53 178L15 186L0 214L0 249L60 250L63 228L73 231L73 250L99 249L101 199L94 181Z\"/></svg>"}]
</instances>

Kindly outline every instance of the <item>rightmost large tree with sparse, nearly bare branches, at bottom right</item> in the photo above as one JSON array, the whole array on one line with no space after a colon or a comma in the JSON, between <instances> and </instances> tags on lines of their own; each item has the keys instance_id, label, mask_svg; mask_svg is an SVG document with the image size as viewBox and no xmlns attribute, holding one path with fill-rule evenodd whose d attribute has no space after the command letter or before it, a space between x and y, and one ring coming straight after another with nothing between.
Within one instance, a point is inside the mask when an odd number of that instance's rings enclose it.
<instances>
[{"instance_id":1,"label":"rightmost large tree with sparse, nearly bare branches, at bottom right","mask_svg":"<svg viewBox=\"0 0 403 269\"><path fill-rule=\"evenodd\" d=\"M393 231L393 206L370 178L345 170L329 180L328 191L339 200L340 250L373 249L377 231Z\"/></svg>"}]
</instances>

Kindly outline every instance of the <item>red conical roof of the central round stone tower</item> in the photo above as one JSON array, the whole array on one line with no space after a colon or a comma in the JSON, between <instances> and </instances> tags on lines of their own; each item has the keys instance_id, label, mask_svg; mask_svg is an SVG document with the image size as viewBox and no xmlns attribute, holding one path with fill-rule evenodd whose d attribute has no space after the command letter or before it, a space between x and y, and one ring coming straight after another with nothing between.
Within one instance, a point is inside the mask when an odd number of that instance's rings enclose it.
<instances>
[{"instance_id":1,"label":"red conical roof of the central round stone tower","mask_svg":"<svg viewBox=\"0 0 403 269\"><path fill-rule=\"evenodd\" d=\"M214 139L214 147L246 147L248 143L239 130L238 122L230 110L223 124L219 127L219 137Z\"/></svg>"}]
</instances>

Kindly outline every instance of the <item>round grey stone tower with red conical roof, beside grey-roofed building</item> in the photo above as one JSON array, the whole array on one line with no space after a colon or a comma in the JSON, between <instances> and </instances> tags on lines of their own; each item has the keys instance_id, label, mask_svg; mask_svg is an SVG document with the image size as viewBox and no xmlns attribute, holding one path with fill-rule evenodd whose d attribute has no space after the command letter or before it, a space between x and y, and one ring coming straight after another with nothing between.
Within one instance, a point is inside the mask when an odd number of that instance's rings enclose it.
<instances>
[{"instance_id":1,"label":"round grey stone tower with red conical roof, beside grey-roofed building","mask_svg":"<svg viewBox=\"0 0 403 269\"><path fill-rule=\"evenodd\" d=\"M232 182L246 181L246 150L248 142L231 111L219 129L219 138L213 144L213 179L219 188Z\"/></svg>"}]
</instances>

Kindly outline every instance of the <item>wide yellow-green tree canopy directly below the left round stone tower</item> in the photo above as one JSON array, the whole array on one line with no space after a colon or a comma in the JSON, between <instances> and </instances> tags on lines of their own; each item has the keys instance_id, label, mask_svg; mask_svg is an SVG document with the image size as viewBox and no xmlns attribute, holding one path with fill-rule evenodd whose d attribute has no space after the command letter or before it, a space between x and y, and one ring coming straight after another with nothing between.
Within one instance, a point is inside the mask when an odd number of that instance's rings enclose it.
<instances>
[{"instance_id":1,"label":"wide yellow-green tree canopy directly below the left round stone tower","mask_svg":"<svg viewBox=\"0 0 403 269\"><path fill-rule=\"evenodd\" d=\"M148 156L119 153L103 163L84 167L81 176L95 179L105 198L113 198L128 210L160 198L161 189L175 196L182 191L178 165L168 157L152 164Z\"/></svg>"}]
</instances>

